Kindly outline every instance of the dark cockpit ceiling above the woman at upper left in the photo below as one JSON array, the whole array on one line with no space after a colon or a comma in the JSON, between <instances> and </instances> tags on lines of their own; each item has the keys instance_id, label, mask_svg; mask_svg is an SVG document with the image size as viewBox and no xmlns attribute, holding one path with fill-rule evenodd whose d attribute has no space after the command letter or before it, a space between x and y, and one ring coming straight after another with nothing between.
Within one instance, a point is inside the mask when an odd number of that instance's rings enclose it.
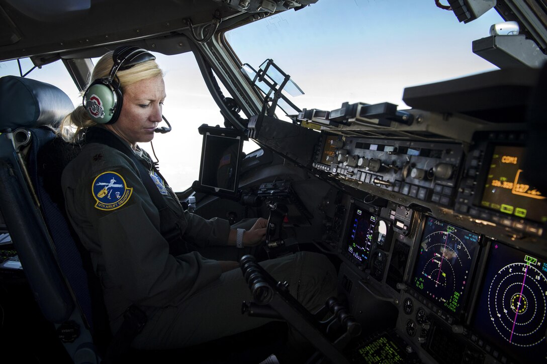
<instances>
[{"instance_id":1,"label":"dark cockpit ceiling above the woman at upper left","mask_svg":"<svg viewBox=\"0 0 547 364\"><path fill-rule=\"evenodd\" d=\"M74 55L78 50L93 48L100 55L103 46L109 44L176 37L188 29L188 19L194 27L199 27L220 18L219 28L223 28L249 18L252 11L241 10L231 3L235 1L0 0L0 61L36 55L44 58ZM277 5L277 10L284 8ZM89 51L85 55L89 56Z\"/></svg>"}]
</instances>

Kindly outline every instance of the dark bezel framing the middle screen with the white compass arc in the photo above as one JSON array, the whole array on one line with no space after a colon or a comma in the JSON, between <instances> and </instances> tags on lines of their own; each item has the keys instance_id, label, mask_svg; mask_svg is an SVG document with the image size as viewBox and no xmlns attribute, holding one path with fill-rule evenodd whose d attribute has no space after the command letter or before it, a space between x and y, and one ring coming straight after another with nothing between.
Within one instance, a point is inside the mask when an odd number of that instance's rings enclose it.
<instances>
[{"instance_id":1,"label":"dark bezel framing the middle screen with the white compass arc","mask_svg":"<svg viewBox=\"0 0 547 364\"><path fill-rule=\"evenodd\" d=\"M414 279L416 277L416 274L415 274L416 266L418 264L418 255L420 254L420 245L421 245L422 239L424 238L424 233L426 232L426 224L427 224L428 219L438 220L440 222L443 222L444 224L456 227L456 228L464 230L464 231L474 233L474 234L476 234L476 236L478 236L478 239L477 239L477 242L476 242L476 249L473 252L473 255L471 256L472 263L471 263L471 266L469 267L469 273L468 273L467 283L466 283L467 286L465 287L465 291L462 295L461 305L458 309L458 312L452 312L451 310L449 310L449 309L445 308L444 306L442 306L440 302L438 302L436 300L430 300L430 298L427 295L424 295L423 291L420 291L416 288L415 283L414 283ZM408 274L408 279L406 280L406 283L411 287L412 291L414 291L414 292L418 293L420 296L424 297L426 299L426 301L430 302L434 307L438 308L439 310L441 310L446 315L449 315L451 318L455 318L456 320L458 320L458 322L463 322L467 318L467 316L469 315L469 313L467 312L468 311L467 308L470 306L470 303L472 302L472 298L474 296L472 286L473 286L473 281L474 281L474 278L475 278L475 275L476 275L476 271L478 269L479 256L480 256L480 251L482 249L482 240L484 239L484 236L482 236L480 233L469 230L468 228L464 228L464 227L461 227L459 225L452 224L449 221L445 221L445 220L442 220L442 219L438 219L434 216L427 215L423 219L423 221L421 222L420 229L416 234L416 239L417 239L416 242L415 242L416 249L412 253L413 254L412 255L412 261L411 261L411 264L409 265L409 274Z\"/></svg>"}]
</instances>

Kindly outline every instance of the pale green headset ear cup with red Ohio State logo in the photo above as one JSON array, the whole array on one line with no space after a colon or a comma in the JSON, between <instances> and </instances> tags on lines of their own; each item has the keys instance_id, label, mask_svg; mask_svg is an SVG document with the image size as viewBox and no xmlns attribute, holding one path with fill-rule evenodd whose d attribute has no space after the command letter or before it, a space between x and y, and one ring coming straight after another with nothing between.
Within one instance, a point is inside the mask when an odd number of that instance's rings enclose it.
<instances>
[{"instance_id":1,"label":"pale green headset ear cup with red Ohio State logo","mask_svg":"<svg viewBox=\"0 0 547 364\"><path fill-rule=\"evenodd\" d=\"M108 79L98 79L84 93L83 105L97 124L113 124L118 119L122 103L121 91Z\"/></svg>"}]
</instances>

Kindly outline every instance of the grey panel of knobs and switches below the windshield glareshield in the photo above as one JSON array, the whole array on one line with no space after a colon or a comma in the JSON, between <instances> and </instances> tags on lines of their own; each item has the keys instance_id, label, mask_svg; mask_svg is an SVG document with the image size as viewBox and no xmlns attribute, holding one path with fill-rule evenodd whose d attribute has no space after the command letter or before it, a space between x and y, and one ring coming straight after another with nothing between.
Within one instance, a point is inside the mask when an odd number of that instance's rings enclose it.
<instances>
[{"instance_id":1,"label":"grey panel of knobs and switches below the windshield glareshield","mask_svg":"<svg viewBox=\"0 0 547 364\"><path fill-rule=\"evenodd\" d=\"M341 138L324 134L313 160L314 168L342 180L451 207L463 149L457 143Z\"/></svg>"}]
</instances>

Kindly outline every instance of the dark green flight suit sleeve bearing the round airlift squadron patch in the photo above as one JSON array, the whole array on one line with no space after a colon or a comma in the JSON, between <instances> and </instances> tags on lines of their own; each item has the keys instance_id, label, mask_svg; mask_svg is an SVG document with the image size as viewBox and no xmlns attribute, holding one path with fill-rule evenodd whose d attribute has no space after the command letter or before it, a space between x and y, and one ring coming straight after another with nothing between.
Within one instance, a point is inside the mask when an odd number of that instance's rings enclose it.
<instances>
[{"instance_id":1,"label":"dark green flight suit sleeve bearing the round airlift squadron patch","mask_svg":"<svg viewBox=\"0 0 547 364\"><path fill-rule=\"evenodd\" d=\"M217 261L196 252L169 254L159 230L158 210L137 177L136 167L121 153L114 161L107 156L103 159L92 165L91 173L83 172L80 183L63 174L63 190L67 212L86 240L86 248L101 255L109 280L106 284L112 285L109 288L121 290L134 303L165 307L177 305L219 278L222 272ZM116 187L108 187L112 179ZM106 191L103 186L108 187Z\"/></svg>"}]
</instances>

